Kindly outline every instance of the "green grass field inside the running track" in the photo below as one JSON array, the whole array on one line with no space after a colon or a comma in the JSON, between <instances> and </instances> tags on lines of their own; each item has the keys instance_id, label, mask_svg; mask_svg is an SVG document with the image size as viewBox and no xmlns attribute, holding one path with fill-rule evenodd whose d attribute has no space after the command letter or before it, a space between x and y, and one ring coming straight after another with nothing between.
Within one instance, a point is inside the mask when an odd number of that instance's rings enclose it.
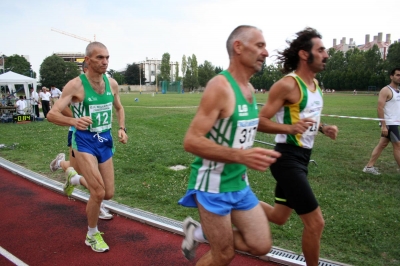
<instances>
[{"instance_id":1,"label":"green grass field inside the running track","mask_svg":"<svg viewBox=\"0 0 400 266\"><path fill-rule=\"evenodd\" d=\"M183 220L198 219L196 209L177 204L185 193L193 155L182 141L201 94L122 94L129 142L116 143L114 200L120 203ZM264 103L267 94L257 94ZM139 101L135 102L135 98ZM326 94L323 114L376 117L373 95ZM116 119L114 119L116 121ZM400 172L391 146L376 166L380 176L362 172L378 143L377 121L322 117L339 127L336 141L320 134L316 138L309 180L326 221L321 240L321 258L352 265L399 265ZM116 139L116 128L113 130ZM61 171L51 173L50 161L67 153L67 127L47 121L29 124L0 124L0 144L18 143L16 149L0 149L0 156L50 178L64 182ZM273 143L273 136L258 133L257 139ZM263 144L256 144L264 146ZM269 171L250 170L251 186L260 200L273 203L275 180ZM271 225L274 246L301 253L302 223L293 213L284 226Z\"/></svg>"}]
</instances>

